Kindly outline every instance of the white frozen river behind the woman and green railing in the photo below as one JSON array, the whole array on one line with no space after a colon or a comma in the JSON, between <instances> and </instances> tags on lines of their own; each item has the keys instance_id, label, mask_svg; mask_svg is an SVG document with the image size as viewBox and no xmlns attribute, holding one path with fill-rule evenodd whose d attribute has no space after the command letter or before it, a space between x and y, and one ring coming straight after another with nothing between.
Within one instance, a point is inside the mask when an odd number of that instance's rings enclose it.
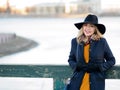
<instances>
[{"instance_id":1,"label":"white frozen river behind the woman and green railing","mask_svg":"<svg viewBox=\"0 0 120 90\"><path fill-rule=\"evenodd\" d=\"M0 33L16 33L18 36L39 43L39 46L31 50L0 58L0 64L68 64L71 39L76 37L78 32L74 23L80 21L83 20L81 18L0 18ZM99 22L106 25L107 31L104 37L113 51L116 64L120 64L120 17L101 17ZM8 82L13 82L9 78L0 78L0 81L2 80L8 87L10 86ZM35 80L32 80L33 83ZM25 85L30 82L26 80ZM119 90L119 83L119 80L107 80L106 90ZM16 84L15 86L17 87Z\"/></svg>"}]
</instances>

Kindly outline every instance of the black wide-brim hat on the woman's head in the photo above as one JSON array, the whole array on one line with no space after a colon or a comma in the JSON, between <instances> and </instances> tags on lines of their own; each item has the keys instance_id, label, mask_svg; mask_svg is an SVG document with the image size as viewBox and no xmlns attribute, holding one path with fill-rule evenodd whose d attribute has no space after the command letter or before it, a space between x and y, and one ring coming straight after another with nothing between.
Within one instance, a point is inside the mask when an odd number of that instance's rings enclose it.
<instances>
[{"instance_id":1,"label":"black wide-brim hat on the woman's head","mask_svg":"<svg viewBox=\"0 0 120 90\"><path fill-rule=\"evenodd\" d=\"M85 18L84 22L75 23L74 25L80 30L81 27L83 26L83 24L85 24L85 23L94 24L94 25L98 28L98 30L99 30L99 32L100 32L101 34L104 34L105 31L106 31L105 25L98 23L98 18L97 18L96 15L91 15L91 14L89 14L89 15Z\"/></svg>"}]
</instances>

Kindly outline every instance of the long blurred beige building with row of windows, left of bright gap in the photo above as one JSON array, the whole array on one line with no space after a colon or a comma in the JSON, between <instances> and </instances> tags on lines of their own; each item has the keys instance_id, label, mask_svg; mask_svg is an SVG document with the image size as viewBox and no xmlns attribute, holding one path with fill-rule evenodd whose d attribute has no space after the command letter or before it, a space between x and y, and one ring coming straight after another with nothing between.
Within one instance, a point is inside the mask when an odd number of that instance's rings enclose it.
<instances>
[{"instance_id":1,"label":"long blurred beige building with row of windows, left of bright gap","mask_svg":"<svg viewBox=\"0 0 120 90\"><path fill-rule=\"evenodd\" d=\"M41 3L31 8L30 15L56 15L65 12L64 3Z\"/></svg>"}]
</instances>

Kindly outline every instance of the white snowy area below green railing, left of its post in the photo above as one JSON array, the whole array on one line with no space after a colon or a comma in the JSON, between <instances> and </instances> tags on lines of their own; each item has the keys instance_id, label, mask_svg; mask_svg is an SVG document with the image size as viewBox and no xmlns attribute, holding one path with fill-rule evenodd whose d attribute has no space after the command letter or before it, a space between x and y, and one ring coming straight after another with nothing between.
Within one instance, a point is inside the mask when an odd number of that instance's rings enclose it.
<instances>
[{"instance_id":1,"label":"white snowy area below green railing, left of its post","mask_svg":"<svg viewBox=\"0 0 120 90\"><path fill-rule=\"evenodd\" d=\"M53 79L0 77L0 90L53 90Z\"/></svg>"}]
</instances>

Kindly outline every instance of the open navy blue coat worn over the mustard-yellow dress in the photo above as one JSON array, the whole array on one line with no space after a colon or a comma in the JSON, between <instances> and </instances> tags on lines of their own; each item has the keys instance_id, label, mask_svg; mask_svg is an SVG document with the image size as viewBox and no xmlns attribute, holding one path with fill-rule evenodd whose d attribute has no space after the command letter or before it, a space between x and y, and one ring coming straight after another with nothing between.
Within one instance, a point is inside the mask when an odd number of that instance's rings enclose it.
<instances>
[{"instance_id":1,"label":"open navy blue coat worn over the mustard-yellow dress","mask_svg":"<svg viewBox=\"0 0 120 90\"><path fill-rule=\"evenodd\" d=\"M74 73L67 90L80 88L85 72L82 70L77 72L75 68L78 61L85 63L83 50L84 43L77 44L76 38L73 38L68 62ZM89 52L89 63L97 63L100 67L100 72L90 73L90 90L105 90L105 72L115 64L115 58L105 38L98 41L91 40Z\"/></svg>"}]
</instances>

